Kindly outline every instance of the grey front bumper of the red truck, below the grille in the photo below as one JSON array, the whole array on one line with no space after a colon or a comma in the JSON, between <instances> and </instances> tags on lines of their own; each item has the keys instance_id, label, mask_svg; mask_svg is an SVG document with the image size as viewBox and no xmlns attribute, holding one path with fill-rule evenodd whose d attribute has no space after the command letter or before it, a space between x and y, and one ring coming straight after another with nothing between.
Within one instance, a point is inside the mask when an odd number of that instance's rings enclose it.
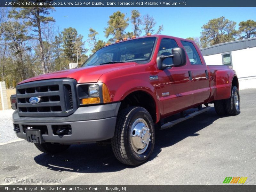
<instances>
[{"instance_id":1,"label":"grey front bumper of the red truck, below the grille","mask_svg":"<svg viewBox=\"0 0 256 192\"><path fill-rule=\"evenodd\" d=\"M46 125L48 135L43 134L45 142L79 143L107 140L114 136L116 116L121 103L111 103L89 107L80 107L67 117L20 117L18 110L12 115L13 123L19 124L16 135L27 140L22 125ZM54 135L52 125L67 125L72 128L71 135Z\"/></svg>"}]
</instances>

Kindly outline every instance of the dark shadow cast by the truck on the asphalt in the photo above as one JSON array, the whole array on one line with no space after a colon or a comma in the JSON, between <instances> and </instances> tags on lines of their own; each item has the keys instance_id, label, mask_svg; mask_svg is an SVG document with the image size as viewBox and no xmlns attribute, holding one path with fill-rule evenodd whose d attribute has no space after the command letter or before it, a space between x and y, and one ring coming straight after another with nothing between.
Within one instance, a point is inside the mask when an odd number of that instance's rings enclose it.
<instances>
[{"instance_id":1,"label":"dark shadow cast by the truck on the asphalt","mask_svg":"<svg viewBox=\"0 0 256 192\"><path fill-rule=\"evenodd\" d=\"M198 136L199 134L196 132L212 124L218 118L220 118L220 116L215 113L214 108L211 108L208 112L188 119L172 128L156 130L155 148L149 161L157 161L157 156L161 153L162 148L175 145L187 137ZM126 168L135 168L119 163L110 145L71 145L65 152L55 154L54 156L43 153L36 156L34 160L37 164L58 172L116 172Z\"/></svg>"}]
</instances>

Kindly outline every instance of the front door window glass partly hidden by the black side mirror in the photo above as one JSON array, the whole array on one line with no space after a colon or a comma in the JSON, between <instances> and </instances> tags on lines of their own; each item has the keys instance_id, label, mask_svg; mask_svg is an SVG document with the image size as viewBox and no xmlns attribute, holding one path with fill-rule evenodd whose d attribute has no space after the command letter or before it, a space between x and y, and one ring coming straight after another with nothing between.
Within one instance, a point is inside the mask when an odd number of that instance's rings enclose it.
<instances>
[{"instance_id":1,"label":"front door window glass partly hidden by the black side mirror","mask_svg":"<svg viewBox=\"0 0 256 192\"><path fill-rule=\"evenodd\" d=\"M162 39L159 50L158 50L158 55L171 55L172 54L172 48L178 47L177 43L173 39ZM163 63L166 65L173 64L172 58L166 58L163 60Z\"/></svg>"}]
</instances>

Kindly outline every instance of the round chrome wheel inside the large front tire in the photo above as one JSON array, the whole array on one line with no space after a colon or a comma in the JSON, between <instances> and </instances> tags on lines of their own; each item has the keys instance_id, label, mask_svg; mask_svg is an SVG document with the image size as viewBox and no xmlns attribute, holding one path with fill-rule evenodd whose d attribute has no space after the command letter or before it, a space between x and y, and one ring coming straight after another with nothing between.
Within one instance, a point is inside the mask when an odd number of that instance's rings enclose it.
<instances>
[{"instance_id":1,"label":"round chrome wheel inside the large front tire","mask_svg":"<svg viewBox=\"0 0 256 192\"><path fill-rule=\"evenodd\" d=\"M144 153L148 148L149 142L151 141L150 136L151 133L147 122L142 118L136 119L132 124L130 132L133 150L138 154Z\"/></svg>"}]
</instances>

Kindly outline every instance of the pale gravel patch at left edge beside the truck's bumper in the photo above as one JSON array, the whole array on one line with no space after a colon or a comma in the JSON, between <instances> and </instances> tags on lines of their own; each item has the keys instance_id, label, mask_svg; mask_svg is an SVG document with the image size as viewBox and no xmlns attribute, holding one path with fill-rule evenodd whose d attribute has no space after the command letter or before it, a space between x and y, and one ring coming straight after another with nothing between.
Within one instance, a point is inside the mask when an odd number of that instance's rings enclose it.
<instances>
[{"instance_id":1,"label":"pale gravel patch at left edge beside the truck's bumper","mask_svg":"<svg viewBox=\"0 0 256 192\"><path fill-rule=\"evenodd\" d=\"M0 110L0 145L5 143L19 141L15 133L13 132L12 125L12 113L14 110Z\"/></svg>"}]
</instances>

